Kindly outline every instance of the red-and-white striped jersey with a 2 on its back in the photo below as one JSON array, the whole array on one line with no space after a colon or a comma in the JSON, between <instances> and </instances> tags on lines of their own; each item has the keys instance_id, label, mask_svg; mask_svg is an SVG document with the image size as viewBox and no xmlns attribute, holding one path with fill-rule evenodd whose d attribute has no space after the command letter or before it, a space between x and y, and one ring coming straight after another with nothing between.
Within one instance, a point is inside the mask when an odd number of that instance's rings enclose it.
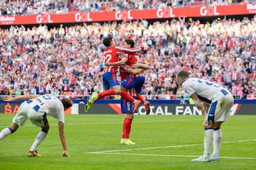
<instances>
[{"instance_id":1,"label":"red-and-white striped jersey with a 2 on its back","mask_svg":"<svg viewBox=\"0 0 256 170\"><path fill-rule=\"evenodd\" d=\"M105 49L104 62L118 62L120 53L131 54L132 52L139 52L140 50L141 49L139 48L124 48L124 47L110 46ZM106 67L103 70L103 73L105 72L117 72L117 66Z\"/></svg>"}]
</instances>

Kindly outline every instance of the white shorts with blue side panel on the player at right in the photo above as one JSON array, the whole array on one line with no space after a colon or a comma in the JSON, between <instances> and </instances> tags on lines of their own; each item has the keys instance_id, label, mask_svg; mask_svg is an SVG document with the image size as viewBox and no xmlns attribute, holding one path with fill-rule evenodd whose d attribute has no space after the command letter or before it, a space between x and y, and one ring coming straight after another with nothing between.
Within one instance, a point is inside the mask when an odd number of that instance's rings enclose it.
<instances>
[{"instance_id":1,"label":"white shorts with blue side panel on the player at right","mask_svg":"<svg viewBox=\"0 0 256 170\"><path fill-rule=\"evenodd\" d=\"M221 98L218 98L217 101L213 101L210 104L208 111L208 122L225 122L228 120L230 115L230 108L232 107L234 98L231 94L227 94Z\"/></svg>"}]
</instances>

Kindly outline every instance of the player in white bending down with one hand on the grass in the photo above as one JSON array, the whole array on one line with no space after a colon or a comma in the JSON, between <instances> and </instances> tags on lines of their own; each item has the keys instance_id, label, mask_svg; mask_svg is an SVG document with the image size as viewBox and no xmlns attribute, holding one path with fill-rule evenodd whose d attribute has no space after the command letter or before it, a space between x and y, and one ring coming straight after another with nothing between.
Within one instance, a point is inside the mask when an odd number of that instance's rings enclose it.
<instances>
[{"instance_id":1,"label":"player in white bending down with one hand on the grass","mask_svg":"<svg viewBox=\"0 0 256 170\"><path fill-rule=\"evenodd\" d=\"M63 145L63 157L69 157L67 146L65 142L64 133L64 111L73 106L73 101L70 98L58 99L51 94L40 95L23 95L23 96L4 96L4 101L23 101L21 106L19 106L16 115L14 116L13 123L11 127L4 128L0 132L0 140L4 139L7 135L16 132L18 127L24 125L26 120L31 120L36 126L41 127L41 131L38 133L36 140L33 145L28 150L29 157L41 157L38 154L36 148L43 142L46 138L50 125L47 120L47 115L53 116L53 118L58 119L58 129L60 132L60 141ZM25 101L24 101L25 100Z\"/></svg>"}]
</instances>

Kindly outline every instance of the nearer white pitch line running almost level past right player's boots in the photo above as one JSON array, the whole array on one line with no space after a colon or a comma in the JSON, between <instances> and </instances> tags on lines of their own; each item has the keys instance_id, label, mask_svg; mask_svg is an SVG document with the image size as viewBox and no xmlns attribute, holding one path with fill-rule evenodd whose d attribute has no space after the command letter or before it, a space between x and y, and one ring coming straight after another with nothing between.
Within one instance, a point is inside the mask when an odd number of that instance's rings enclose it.
<instances>
[{"instance_id":1,"label":"nearer white pitch line running almost level past right player's boots","mask_svg":"<svg viewBox=\"0 0 256 170\"><path fill-rule=\"evenodd\" d=\"M93 153L93 152L90 152ZM193 155L178 155L178 154L128 154L128 153L95 153L94 154L121 154L134 156L149 156L149 157L198 157ZM256 157L220 157L220 159L256 159Z\"/></svg>"}]
</instances>

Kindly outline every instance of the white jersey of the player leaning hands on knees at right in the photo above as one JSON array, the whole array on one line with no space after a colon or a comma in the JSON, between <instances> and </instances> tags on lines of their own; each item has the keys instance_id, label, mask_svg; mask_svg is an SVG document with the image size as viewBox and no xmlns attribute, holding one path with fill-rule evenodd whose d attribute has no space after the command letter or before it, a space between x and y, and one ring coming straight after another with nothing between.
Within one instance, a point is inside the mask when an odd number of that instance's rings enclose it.
<instances>
[{"instance_id":1,"label":"white jersey of the player leaning hands on knees at right","mask_svg":"<svg viewBox=\"0 0 256 170\"><path fill-rule=\"evenodd\" d=\"M223 86L198 78L186 79L182 84L182 89L186 91L188 96L196 93L198 98L206 103L211 103L212 101L218 100L218 98L223 95L230 94Z\"/></svg>"}]
</instances>

